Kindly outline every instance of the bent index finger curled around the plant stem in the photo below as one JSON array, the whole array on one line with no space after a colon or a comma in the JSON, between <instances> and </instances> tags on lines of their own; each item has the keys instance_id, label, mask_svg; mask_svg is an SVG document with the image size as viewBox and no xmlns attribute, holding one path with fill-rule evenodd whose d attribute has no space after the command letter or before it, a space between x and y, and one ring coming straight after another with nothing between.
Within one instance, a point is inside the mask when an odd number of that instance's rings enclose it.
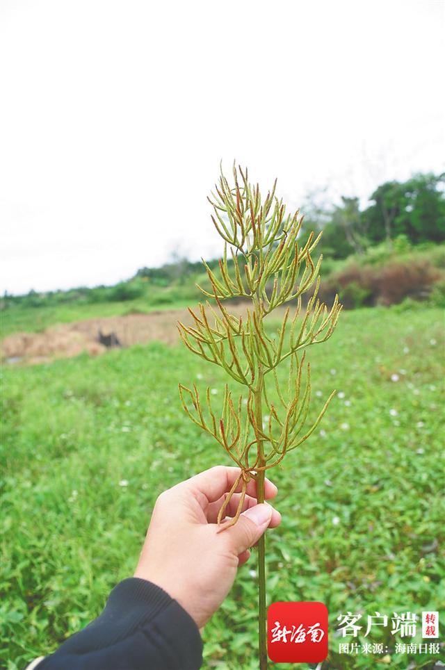
<instances>
[{"instance_id":1,"label":"bent index finger curled around the plant stem","mask_svg":"<svg viewBox=\"0 0 445 670\"><path fill-rule=\"evenodd\" d=\"M191 477L189 480L186 480L184 484L191 490L202 493L209 503L214 503L216 500L219 500L224 493L228 493L230 489L232 489L232 486L236 482L240 473L240 468L230 468L228 466L219 465ZM234 492L239 493L242 491L242 488L243 484L242 481L240 481ZM257 498L257 482L253 477L251 477L250 482L248 482L246 492L248 493L248 496ZM275 498L277 492L278 489L275 484L265 477L264 498L266 498L266 500Z\"/></svg>"}]
</instances>

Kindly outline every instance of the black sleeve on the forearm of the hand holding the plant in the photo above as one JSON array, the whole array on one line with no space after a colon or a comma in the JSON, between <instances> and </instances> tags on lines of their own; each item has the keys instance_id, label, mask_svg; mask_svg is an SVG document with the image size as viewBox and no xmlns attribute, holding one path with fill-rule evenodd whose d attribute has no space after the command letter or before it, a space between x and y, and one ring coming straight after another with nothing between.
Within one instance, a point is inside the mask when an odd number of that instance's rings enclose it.
<instances>
[{"instance_id":1,"label":"black sleeve on the forearm of the hand holding the plant","mask_svg":"<svg viewBox=\"0 0 445 670\"><path fill-rule=\"evenodd\" d=\"M191 616L163 589L129 578L111 591L97 619L36 670L197 670L201 663Z\"/></svg>"}]
</instances>

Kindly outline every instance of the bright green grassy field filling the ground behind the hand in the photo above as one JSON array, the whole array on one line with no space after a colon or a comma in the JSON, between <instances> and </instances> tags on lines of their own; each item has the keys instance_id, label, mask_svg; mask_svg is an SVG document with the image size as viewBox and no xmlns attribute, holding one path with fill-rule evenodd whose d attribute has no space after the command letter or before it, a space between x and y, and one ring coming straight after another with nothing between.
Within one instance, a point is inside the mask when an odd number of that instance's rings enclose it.
<instances>
[{"instance_id":1,"label":"bright green grassy field filling the ground behind the hand","mask_svg":"<svg viewBox=\"0 0 445 670\"><path fill-rule=\"evenodd\" d=\"M323 670L370 669L381 657L339 655L339 642L353 642L332 634L339 614L363 612L366 628L375 610L420 614L444 605L442 314L344 313L332 339L308 354L312 416L333 388L344 397L272 475L283 521L267 537L268 598L321 600L331 622ZM133 572L163 489L228 464L181 410L178 380L222 389L224 377L184 347L159 343L4 370L8 670L99 614L113 585ZM255 563L253 555L240 569L204 630L204 668L257 668ZM384 667L432 668L428 654L396 655L404 640L390 628L357 641L387 644Z\"/></svg>"}]
</instances>

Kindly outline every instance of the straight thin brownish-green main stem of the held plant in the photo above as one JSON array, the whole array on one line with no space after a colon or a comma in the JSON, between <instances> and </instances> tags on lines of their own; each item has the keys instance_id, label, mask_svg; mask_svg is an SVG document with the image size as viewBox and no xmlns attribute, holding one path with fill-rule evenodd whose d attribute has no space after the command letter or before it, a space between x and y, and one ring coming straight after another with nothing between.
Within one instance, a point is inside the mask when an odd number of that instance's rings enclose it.
<instances>
[{"instance_id":1,"label":"straight thin brownish-green main stem of the held plant","mask_svg":"<svg viewBox=\"0 0 445 670\"><path fill-rule=\"evenodd\" d=\"M264 384L264 373L259 366L257 390L255 393L255 421L260 428L263 425L263 413L261 407ZM258 441L259 467L266 465L264 459L263 441ZM257 500L264 503L264 470L257 473ZM258 655L259 670L267 670L267 616L266 616L266 564L265 564L265 535L258 541Z\"/></svg>"}]
</instances>

